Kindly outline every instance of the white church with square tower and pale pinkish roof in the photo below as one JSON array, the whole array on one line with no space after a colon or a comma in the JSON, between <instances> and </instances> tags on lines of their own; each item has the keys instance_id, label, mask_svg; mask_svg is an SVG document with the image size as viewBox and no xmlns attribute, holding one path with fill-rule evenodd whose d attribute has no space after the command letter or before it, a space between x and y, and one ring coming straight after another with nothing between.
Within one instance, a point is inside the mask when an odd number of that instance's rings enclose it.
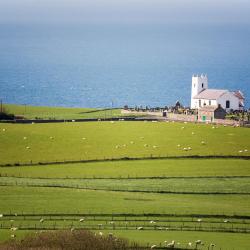
<instances>
[{"instance_id":1,"label":"white church with square tower and pale pinkish roof","mask_svg":"<svg viewBox=\"0 0 250 250\"><path fill-rule=\"evenodd\" d=\"M192 76L191 109L204 106L221 106L227 112L244 109L244 95L241 91L209 89L207 75Z\"/></svg>"}]
</instances>

